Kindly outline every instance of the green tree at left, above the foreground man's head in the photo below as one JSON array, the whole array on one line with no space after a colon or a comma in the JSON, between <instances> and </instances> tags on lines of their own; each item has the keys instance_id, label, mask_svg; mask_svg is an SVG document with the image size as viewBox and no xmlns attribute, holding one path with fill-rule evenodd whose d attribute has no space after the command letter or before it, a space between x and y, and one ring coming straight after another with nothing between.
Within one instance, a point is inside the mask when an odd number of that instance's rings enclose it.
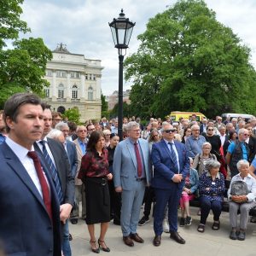
<instances>
[{"instance_id":1,"label":"green tree at left, above the foreground man's head","mask_svg":"<svg viewBox=\"0 0 256 256\"><path fill-rule=\"evenodd\" d=\"M0 108L16 92L32 91L43 96L49 83L44 79L46 63L51 51L42 38L23 38L20 32L29 32L26 22L20 20L23 0L2 0L0 3ZM6 49L6 40L12 40L14 49Z\"/></svg>"}]
</instances>

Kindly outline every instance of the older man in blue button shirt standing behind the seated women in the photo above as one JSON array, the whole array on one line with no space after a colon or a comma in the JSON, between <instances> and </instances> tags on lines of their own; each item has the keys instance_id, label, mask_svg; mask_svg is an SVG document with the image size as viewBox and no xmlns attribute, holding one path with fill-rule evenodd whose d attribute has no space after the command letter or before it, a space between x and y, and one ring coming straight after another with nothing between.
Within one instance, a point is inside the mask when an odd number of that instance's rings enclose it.
<instances>
[{"instance_id":1,"label":"older man in blue button shirt standing behind the seated women","mask_svg":"<svg viewBox=\"0 0 256 256\"><path fill-rule=\"evenodd\" d=\"M185 146L189 157L194 159L196 154L201 154L202 144L206 142L206 138L200 135L199 125L192 125L191 131L192 135L187 138Z\"/></svg>"}]
</instances>

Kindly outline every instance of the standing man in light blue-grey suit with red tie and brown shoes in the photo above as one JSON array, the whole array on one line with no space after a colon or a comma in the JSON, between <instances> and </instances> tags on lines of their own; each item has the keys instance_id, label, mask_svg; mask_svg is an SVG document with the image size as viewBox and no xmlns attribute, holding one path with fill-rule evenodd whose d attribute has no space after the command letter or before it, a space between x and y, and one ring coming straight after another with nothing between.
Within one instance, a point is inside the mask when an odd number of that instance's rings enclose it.
<instances>
[{"instance_id":1,"label":"standing man in light blue-grey suit with red tie and brown shoes","mask_svg":"<svg viewBox=\"0 0 256 256\"><path fill-rule=\"evenodd\" d=\"M133 241L144 242L137 235L137 223L145 186L150 182L151 165L148 142L139 138L139 124L130 122L125 129L128 137L117 145L113 156L113 182L116 192L122 192L123 241L133 247Z\"/></svg>"}]
</instances>

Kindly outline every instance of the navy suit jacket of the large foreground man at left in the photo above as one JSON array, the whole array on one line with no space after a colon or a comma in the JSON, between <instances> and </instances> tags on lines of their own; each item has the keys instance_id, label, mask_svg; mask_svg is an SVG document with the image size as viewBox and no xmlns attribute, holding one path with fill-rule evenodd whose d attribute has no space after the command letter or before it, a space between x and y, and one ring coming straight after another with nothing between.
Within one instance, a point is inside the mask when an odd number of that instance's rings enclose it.
<instances>
[{"instance_id":1,"label":"navy suit jacket of the large foreground man at left","mask_svg":"<svg viewBox=\"0 0 256 256\"><path fill-rule=\"evenodd\" d=\"M7 255L61 256L60 206L49 171L53 223L31 177L6 143L0 145L0 240Z\"/></svg>"}]
</instances>

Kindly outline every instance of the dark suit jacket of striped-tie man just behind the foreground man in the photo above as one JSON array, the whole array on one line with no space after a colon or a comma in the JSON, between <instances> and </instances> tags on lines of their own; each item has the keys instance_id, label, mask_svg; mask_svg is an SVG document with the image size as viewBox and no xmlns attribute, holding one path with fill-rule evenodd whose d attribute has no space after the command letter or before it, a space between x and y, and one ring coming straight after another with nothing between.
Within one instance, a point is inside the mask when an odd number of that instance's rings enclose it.
<instances>
[{"instance_id":1,"label":"dark suit jacket of striped-tie man just behind the foreground man","mask_svg":"<svg viewBox=\"0 0 256 256\"><path fill-rule=\"evenodd\" d=\"M47 138L49 149L55 160L55 166L59 177L61 179L61 188L64 197L63 203L69 203L74 205L74 178L70 170L69 160L67 152L64 146L55 141L54 139ZM41 149L38 147L37 143L34 143L35 150L41 154L44 159ZM47 166L47 163L45 163ZM49 167L49 166L48 166Z\"/></svg>"}]
</instances>

